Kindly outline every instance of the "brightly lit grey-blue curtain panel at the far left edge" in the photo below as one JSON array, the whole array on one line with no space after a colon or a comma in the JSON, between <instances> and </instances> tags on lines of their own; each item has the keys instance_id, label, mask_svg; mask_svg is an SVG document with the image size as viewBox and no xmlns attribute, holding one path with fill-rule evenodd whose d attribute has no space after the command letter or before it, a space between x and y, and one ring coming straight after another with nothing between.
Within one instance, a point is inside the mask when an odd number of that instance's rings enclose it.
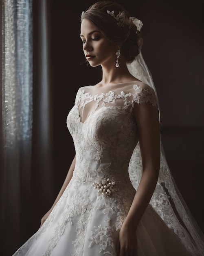
<instances>
[{"instance_id":1,"label":"brightly lit grey-blue curtain panel at the far left edge","mask_svg":"<svg viewBox=\"0 0 204 256\"><path fill-rule=\"evenodd\" d=\"M30 197L32 137L32 1L2 1L2 166L3 243L18 243L20 193ZM12 230L12 232L11 232ZM5 239L5 241L4 241Z\"/></svg>"}]
</instances>

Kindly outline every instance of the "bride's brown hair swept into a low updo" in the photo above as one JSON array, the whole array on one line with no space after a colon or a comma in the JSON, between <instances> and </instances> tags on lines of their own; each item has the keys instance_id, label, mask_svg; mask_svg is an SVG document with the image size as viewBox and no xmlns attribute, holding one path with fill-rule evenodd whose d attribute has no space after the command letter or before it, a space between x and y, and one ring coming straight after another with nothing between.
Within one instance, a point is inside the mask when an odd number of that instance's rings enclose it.
<instances>
[{"instance_id":1,"label":"bride's brown hair swept into a low updo","mask_svg":"<svg viewBox=\"0 0 204 256\"><path fill-rule=\"evenodd\" d=\"M107 10L114 11L115 16L124 11L124 27L119 26L118 20L108 14ZM143 44L140 31L130 19L129 13L120 4L112 1L96 2L83 12L81 22L83 19L88 19L99 27L105 38L113 45L120 45L127 62L132 62L140 53Z\"/></svg>"}]
</instances>

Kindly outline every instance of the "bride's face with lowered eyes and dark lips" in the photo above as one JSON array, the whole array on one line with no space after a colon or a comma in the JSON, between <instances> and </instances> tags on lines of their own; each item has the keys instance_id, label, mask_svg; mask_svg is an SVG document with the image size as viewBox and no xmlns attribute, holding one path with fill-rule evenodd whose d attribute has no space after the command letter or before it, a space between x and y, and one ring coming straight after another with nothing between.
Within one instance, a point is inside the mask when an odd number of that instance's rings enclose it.
<instances>
[{"instance_id":1,"label":"bride's face with lowered eyes and dark lips","mask_svg":"<svg viewBox=\"0 0 204 256\"><path fill-rule=\"evenodd\" d=\"M83 52L92 67L115 65L117 46L110 43L101 30L87 19L81 22Z\"/></svg>"}]
</instances>

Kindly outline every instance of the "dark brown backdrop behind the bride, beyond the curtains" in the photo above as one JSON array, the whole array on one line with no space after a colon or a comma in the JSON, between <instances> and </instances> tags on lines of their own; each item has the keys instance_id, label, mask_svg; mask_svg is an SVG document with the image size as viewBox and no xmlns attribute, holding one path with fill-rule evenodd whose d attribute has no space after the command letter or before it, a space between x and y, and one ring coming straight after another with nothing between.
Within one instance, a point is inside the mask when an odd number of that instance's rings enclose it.
<instances>
[{"instance_id":1,"label":"dark brown backdrop behind the bride, beyond the curtains","mask_svg":"<svg viewBox=\"0 0 204 256\"><path fill-rule=\"evenodd\" d=\"M46 188L46 184L38 185L37 176L32 180L31 222L22 226L19 246L39 228L40 220L52 206L75 155L66 127L66 117L74 104L75 94L79 87L93 85L101 79L100 67L80 65L85 58L79 38L79 16L94 2L47 1L53 194L42 196L41 186ZM158 92L167 162L186 204L204 231L204 1L115 2L143 21L142 52ZM34 54L39 28L37 18L37 1L33 0Z\"/></svg>"}]
</instances>

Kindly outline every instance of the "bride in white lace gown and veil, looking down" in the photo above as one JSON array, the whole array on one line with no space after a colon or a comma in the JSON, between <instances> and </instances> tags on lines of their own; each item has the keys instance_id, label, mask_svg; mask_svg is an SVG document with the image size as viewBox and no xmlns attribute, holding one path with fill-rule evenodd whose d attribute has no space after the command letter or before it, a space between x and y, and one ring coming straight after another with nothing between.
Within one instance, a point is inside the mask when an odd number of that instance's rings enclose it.
<instances>
[{"instance_id":1,"label":"bride in white lace gown and veil, looking down","mask_svg":"<svg viewBox=\"0 0 204 256\"><path fill-rule=\"evenodd\" d=\"M67 118L75 158L40 229L14 255L202 255L161 154L141 25L113 2L82 13L83 51L92 67L101 65L102 80L77 92Z\"/></svg>"}]
</instances>

